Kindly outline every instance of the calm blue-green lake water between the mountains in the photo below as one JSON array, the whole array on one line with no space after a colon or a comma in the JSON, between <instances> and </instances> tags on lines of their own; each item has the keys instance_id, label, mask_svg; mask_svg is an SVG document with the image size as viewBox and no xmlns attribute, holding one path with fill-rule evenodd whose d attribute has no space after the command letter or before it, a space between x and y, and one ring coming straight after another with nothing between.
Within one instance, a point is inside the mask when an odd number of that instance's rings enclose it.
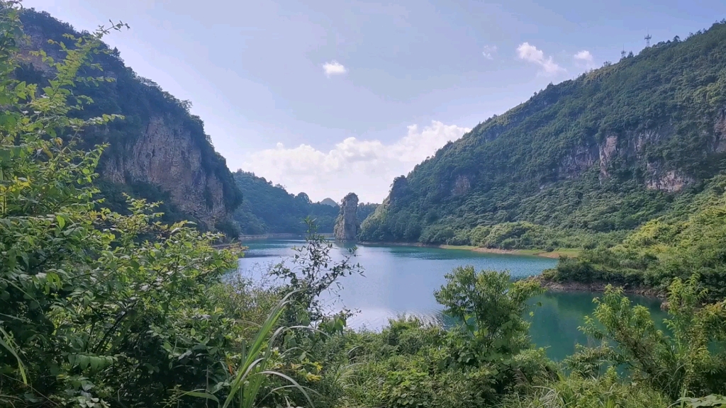
<instances>
[{"instance_id":1,"label":"calm blue-green lake water between the mountains","mask_svg":"<svg viewBox=\"0 0 726 408\"><path fill-rule=\"evenodd\" d=\"M245 241L248 247L240 259L240 273L259 279L267 266L293 255L293 246L303 240ZM342 259L348 248L335 243L333 257ZM330 295L328 301L337 307L356 311L348 321L354 328L380 330L388 319L401 314L420 317L426 321L441 322L441 306L433 292L446 282L444 274L456 266L473 265L477 270L508 270L512 277L529 277L542 273L557 264L557 260L537 256L477 253L470 250L423 248L414 246L359 245L353 258L364 269L364 276L354 275L340 280L343 289L339 298ZM540 347L547 347L547 355L561 360L572 354L575 344L587 343L577 327L583 317L592 314L592 298L598 293L555 292L533 299L541 307L534 309L530 335ZM665 314L660 301L642 296L631 296L633 303L643 304L657 319ZM529 319L529 317L528 317Z\"/></svg>"}]
</instances>

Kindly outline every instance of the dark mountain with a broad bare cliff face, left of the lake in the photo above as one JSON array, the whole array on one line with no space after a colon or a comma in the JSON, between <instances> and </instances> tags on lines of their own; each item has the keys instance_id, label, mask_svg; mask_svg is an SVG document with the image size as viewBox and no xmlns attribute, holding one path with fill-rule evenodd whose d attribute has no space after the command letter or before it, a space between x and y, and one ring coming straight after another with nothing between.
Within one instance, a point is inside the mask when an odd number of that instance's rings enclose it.
<instances>
[{"instance_id":1,"label":"dark mountain with a broad bare cliff face, left of the lake","mask_svg":"<svg viewBox=\"0 0 726 408\"><path fill-rule=\"evenodd\" d=\"M54 60L62 58L64 42L73 47L67 34L78 36L68 24L46 12L25 9L20 14L28 41L21 44L20 67L15 76L28 83L48 84L54 76L52 62L34 51L42 50ZM121 34L123 35L123 34ZM83 119L102 114L123 115L121 121L93 126L83 132L85 147L108 143L99 164L98 183L106 205L121 211L128 192L135 197L163 200L166 221L193 219L205 227L229 225L227 216L241 201L224 158L215 152L200 118L189 113L190 104L176 99L160 87L137 76L124 65L117 50L102 45L94 54L94 67L82 75L113 78L113 81L80 83L77 92L93 99L72 115Z\"/></svg>"}]
</instances>

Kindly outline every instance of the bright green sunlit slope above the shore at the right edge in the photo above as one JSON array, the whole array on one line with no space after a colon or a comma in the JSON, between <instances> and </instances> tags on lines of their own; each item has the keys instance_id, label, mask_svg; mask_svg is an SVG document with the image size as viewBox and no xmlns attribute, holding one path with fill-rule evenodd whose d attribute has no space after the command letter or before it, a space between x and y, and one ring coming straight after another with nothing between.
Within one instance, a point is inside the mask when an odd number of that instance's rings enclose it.
<instances>
[{"instance_id":1,"label":"bright green sunlit slope above the shore at the right edge","mask_svg":"<svg viewBox=\"0 0 726 408\"><path fill-rule=\"evenodd\" d=\"M717 176L695 197L648 221L612 248L562 259L544 276L555 281L609 282L666 292L674 278L698 274L712 300L726 298L726 177Z\"/></svg>"}]
</instances>

